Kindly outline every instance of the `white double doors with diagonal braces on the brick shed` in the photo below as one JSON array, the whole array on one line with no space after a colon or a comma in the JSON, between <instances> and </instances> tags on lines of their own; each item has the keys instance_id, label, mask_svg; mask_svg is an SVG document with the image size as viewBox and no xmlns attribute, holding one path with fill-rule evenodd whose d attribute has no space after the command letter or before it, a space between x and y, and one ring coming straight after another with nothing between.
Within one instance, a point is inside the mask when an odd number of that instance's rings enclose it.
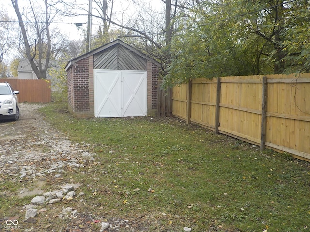
<instances>
[{"instance_id":1,"label":"white double doors with diagonal braces on the brick shed","mask_svg":"<svg viewBox=\"0 0 310 232\"><path fill-rule=\"evenodd\" d=\"M147 115L147 71L94 70L95 117Z\"/></svg>"}]
</instances>

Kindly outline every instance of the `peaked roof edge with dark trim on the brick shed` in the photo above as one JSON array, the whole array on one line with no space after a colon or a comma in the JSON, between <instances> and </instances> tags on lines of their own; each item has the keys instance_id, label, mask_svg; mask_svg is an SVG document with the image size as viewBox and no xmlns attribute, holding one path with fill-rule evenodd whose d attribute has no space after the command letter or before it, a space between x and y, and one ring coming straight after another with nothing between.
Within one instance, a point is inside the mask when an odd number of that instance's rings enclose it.
<instances>
[{"instance_id":1,"label":"peaked roof edge with dark trim on the brick shed","mask_svg":"<svg viewBox=\"0 0 310 232\"><path fill-rule=\"evenodd\" d=\"M140 56L140 57L142 57L142 58L144 58L144 59L146 59L146 60L148 60L148 61L150 61L150 62L156 64L157 66L160 66L160 63L158 63L158 62L155 61L154 59L152 59L152 58L150 58L149 56L147 56L146 54L144 54L144 53L138 51L137 49L133 48L133 47L130 46L129 44L124 43L124 42L121 41L120 39L117 39L117 40L114 40L114 41L112 41L112 42L110 42L110 43L107 43L107 44L105 44L105 45L103 45L103 46L101 46L101 47L98 47L98 48L96 48L96 49L94 49L94 50L92 50L92 51L90 51L90 52L88 52L88 53L85 53L85 54L83 54L83 55L81 55L81 56L79 56L79 57L77 57L77 58L71 59L71 60L67 63L67 65L66 65L66 67L65 67L65 70L67 71L73 64L75 64L76 62L78 62L78 61L80 61L80 60L82 60L82 59L84 59L84 58L87 58L87 57L89 57L89 56L93 56L93 55L95 55L95 54L98 54L98 53L100 53L100 52L102 52L102 51L104 51L104 50L110 48L110 47L117 46L117 45L121 45L121 46L127 48L128 50L132 51L133 53L137 54L138 56Z\"/></svg>"}]
</instances>

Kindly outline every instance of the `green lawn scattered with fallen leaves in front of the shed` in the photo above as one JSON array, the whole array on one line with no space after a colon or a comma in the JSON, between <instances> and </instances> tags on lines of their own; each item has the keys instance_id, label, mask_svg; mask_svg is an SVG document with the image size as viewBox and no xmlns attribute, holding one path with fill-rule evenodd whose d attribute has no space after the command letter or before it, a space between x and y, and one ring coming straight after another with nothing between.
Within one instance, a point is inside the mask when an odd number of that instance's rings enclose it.
<instances>
[{"instance_id":1,"label":"green lawn scattered with fallen leaves in front of the shed","mask_svg":"<svg viewBox=\"0 0 310 232\"><path fill-rule=\"evenodd\" d=\"M77 119L41 110L96 162L70 175L80 210L144 220L153 231L309 231L309 163L171 118Z\"/></svg>"}]
</instances>

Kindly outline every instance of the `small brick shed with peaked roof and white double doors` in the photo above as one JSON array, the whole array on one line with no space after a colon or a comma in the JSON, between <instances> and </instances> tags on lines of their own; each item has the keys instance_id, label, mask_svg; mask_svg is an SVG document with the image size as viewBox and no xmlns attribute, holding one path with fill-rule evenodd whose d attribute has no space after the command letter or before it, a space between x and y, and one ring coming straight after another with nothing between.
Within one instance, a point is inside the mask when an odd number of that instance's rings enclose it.
<instances>
[{"instance_id":1,"label":"small brick shed with peaked roof and white double doors","mask_svg":"<svg viewBox=\"0 0 310 232\"><path fill-rule=\"evenodd\" d=\"M157 113L160 64L121 40L70 60L68 105L77 117Z\"/></svg>"}]
</instances>

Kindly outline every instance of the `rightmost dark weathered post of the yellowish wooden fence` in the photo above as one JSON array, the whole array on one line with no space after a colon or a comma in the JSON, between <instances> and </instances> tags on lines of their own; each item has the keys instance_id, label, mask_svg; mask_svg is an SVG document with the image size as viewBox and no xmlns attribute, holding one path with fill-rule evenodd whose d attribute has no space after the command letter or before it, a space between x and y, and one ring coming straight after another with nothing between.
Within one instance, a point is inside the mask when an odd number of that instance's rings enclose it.
<instances>
[{"instance_id":1,"label":"rightmost dark weathered post of the yellowish wooden fence","mask_svg":"<svg viewBox=\"0 0 310 232\"><path fill-rule=\"evenodd\" d=\"M263 82L262 82L261 147L260 147L260 151L263 151L265 149L265 142L266 142L266 119L267 119L267 77L263 76Z\"/></svg>"}]
</instances>

